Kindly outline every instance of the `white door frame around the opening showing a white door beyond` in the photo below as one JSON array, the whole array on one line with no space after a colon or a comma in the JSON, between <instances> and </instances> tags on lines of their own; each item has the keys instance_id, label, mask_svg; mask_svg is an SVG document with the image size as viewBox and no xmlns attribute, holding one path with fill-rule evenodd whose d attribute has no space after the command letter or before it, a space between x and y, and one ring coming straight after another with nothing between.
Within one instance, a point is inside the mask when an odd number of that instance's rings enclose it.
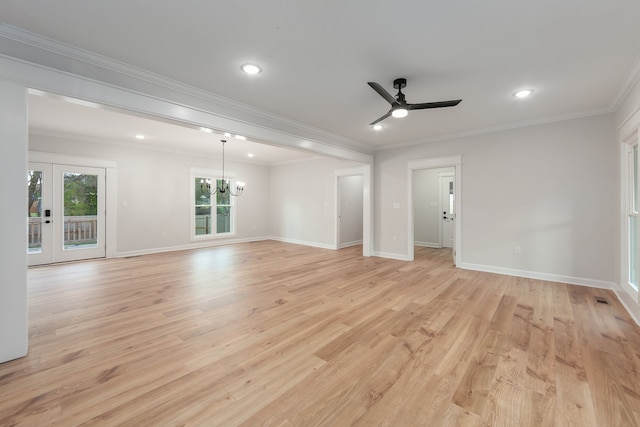
<instances>
[{"instance_id":1,"label":"white door frame around the opening showing a white door beyond","mask_svg":"<svg viewBox=\"0 0 640 427\"><path fill-rule=\"evenodd\" d=\"M407 163L407 260L414 260L413 249L413 171L420 169L439 169L452 167L454 169L454 192L455 192L455 221L453 239L453 262L455 265L462 264L462 155L452 155L446 157L430 157L425 159L409 160Z\"/></svg>"}]
</instances>

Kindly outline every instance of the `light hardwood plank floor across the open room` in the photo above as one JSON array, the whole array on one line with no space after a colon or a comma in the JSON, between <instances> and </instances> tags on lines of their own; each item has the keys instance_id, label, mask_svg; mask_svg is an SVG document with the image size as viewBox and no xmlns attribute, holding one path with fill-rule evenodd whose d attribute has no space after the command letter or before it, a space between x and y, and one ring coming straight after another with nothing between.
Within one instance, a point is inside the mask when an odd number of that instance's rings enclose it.
<instances>
[{"instance_id":1,"label":"light hardwood plank floor across the open room","mask_svg":"<svg viewBox=\"0 0 640 427\"><path fill-rule=\"evenodd\" d=\"M360 251L32 268L0 425L640 425L640 328L612 292Z\"/></svg>"}]
</instances>

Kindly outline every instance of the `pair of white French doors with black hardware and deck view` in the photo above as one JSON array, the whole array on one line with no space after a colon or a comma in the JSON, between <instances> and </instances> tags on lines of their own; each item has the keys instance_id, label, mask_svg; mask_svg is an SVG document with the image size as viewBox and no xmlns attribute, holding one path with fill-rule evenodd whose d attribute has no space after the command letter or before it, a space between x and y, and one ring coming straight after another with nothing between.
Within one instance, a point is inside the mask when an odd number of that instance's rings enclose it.
<instances>
[{"instance_id":1,"label":"pair of white French doors with black hardware and deck view","mask_svg":"<svg viewBox=\"0 0 640 427\"><path fill-rule=\"evenodd\" d=\"M105 257L105 169L29 163L29 265Z\"/></svg>"}]
</instances>

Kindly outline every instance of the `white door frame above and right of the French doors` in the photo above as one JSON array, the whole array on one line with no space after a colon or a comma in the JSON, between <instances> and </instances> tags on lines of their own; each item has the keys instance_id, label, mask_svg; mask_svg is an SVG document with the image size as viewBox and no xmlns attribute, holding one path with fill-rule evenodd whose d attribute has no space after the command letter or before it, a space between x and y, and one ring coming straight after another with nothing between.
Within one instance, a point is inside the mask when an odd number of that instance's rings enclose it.
<instances>
[{"instance_id":1,"label":"white door frame above and right of the French doors","mask_svg":"<svg viewBox=\"0 0 640 427\"><path fill-rule=\"evenodd\" d=\"M118 163L112 160L29 151L28 161L105 169L105 257L117 256Z\"/></svg>"}]
</instances>

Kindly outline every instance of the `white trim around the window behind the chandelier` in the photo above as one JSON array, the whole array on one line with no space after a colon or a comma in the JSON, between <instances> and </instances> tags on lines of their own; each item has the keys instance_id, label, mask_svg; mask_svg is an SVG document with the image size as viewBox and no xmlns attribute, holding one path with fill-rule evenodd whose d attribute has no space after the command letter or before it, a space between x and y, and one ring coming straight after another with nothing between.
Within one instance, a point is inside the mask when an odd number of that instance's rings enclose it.
<instances>
[{"instance_id":1,"label":"white trim around the window behind the chandelier","mask_svg":"<svg viewBox=\"0 0 640 427\"><path fill-rule=\"evenodd\" d=\"M235 197L231 196L229 198L230 202L230 210L231 210L231 231L225 233L218 233L216 231L216 227L213 226L211 234L196 234L196 204L194 203L194 194L196 191L195 181L196 178L205 178L211 179L212 182L216 182L219 179L222 179L222 171L219 169L205 169L205 168L191 168L190 179L189 179L189 238L190 241L203 241L203 240L216 240L216 239L225 239L229 237L235 237L237 235L236 231L236 218L237 218L237 204L235 201ZM229 185L231 188L234 188L236 181L236 173L233 171L224 172L224 178L229 180ZM216 210L215 204L211 205L213 210Z\"/></svg>"}]
</instances>

